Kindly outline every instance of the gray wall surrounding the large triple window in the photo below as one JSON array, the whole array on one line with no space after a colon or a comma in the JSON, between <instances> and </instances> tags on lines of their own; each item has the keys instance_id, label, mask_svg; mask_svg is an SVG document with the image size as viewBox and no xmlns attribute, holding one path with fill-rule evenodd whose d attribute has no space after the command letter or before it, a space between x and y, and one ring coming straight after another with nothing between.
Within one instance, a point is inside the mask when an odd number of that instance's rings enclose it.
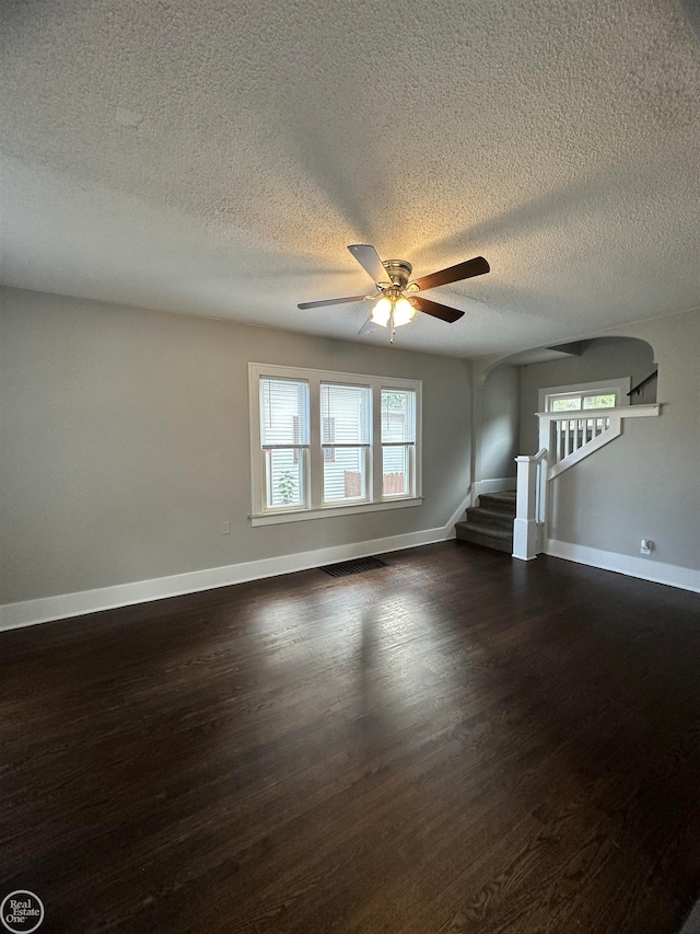
<instances>
[{"instance_id":1,"label":"gray wall surrounding the large triple window","mask_svg":"<svg viewBox=\"0 0 700 934\"><path fill-rule=\"evenodd\" d=\"M440 528L471 483L465 361L16 289L0 308L2 603ZM252 529L248 361L421 379L423 505Z\"/></svg>"}]
</instances>

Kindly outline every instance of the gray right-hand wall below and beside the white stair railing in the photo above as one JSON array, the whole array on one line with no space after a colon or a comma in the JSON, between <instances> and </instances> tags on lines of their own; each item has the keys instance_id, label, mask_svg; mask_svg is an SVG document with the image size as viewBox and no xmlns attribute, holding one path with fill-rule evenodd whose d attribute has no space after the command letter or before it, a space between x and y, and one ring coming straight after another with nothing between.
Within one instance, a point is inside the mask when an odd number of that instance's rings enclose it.
<instances>
[{"instance_id":1,"label":"gray right-hand wall below and beside the white stair railing","mask_svg":"<svg viewBox=\"0 0 700 934\"><path fill-rule=\"evenodd\" d=\"M654 348L662 414L553 482L550 537L634 557L648 538L650 563L700 568L700 309L616 331Z\"/></svg>"}]
</instances>

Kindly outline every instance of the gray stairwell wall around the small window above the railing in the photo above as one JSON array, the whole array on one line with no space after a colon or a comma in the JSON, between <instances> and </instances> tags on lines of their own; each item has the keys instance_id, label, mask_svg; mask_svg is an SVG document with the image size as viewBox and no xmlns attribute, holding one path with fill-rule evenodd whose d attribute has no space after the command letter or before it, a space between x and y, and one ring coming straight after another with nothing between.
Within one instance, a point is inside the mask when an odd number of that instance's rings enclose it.
<instances>
[{"instance_id":1,"label":"gray stairwell wall around the small window above the railing","mask_svg":"<svg viewBox=\"0 0 700 934\"><path fill-rule=\"evenodd\" d=\"M634 387L653 372L654 351L643 341L627 337L598 337L587 343L580 357L567 357L546 364L521 367L521 454L535 454L538 445L537 394L551 385L575 385L595 380L630 377ZM640 396L632 396L632 404L656 401L656 381L648 383Z\"/></svg>"}]
</instances>

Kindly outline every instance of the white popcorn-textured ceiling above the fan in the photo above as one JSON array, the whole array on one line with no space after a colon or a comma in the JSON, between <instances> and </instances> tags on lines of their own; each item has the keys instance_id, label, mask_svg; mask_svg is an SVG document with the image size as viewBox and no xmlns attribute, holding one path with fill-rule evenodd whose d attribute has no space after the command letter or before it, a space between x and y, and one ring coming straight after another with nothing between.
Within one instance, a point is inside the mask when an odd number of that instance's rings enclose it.
<instances>
[{"instance_id":1,"label":"white popcorn-textured ceiling above the fan","mask_svg":"<svg viewBox=\"0 0 700 934\"><path fill-rule=\"evenodd\" d=\"M459 356L700 304L700 42L678 0L1 0L1 281L357 337L346 250Z\"/></svg>"}]
</instances>

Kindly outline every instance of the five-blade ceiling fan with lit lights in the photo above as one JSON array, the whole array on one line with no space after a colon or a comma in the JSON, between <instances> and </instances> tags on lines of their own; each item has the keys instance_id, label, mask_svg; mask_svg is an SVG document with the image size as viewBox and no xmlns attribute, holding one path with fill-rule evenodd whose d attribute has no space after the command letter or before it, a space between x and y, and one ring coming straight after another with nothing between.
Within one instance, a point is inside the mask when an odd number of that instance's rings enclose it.
<instances>
[{"instance_id":1,"label":"five-blade ceiling fan with lit lights","mask_svg":"<svg viewBox=\"0 0 700 934\"><path fill-rule=\"evenodd\" d=\"M440 269L430 276L421 276L420 279L410 280L413 267L406 260L380 260L380 255L369 243L353 243L348 246L362 268L368 273L376 286L377 291L369 296L348 296L347 298L331 298L325 301L304 301L298 308L324 308L331 304L345 304L352 301L372 301L372 313L369 320L360 328L360 334L368 330L374 330L374 325L390 327L392 343L394 343L394 331L401 324L408 324L417 311L439 318L452 324L458 321L464 311L439 304L436 301L423 298L417 292L425 289L434 289L436 286L446 286L450 282L458 282L462 279L470 279L472 276L482 276L491 268L483 256L475 256Z\"/></svg>"}]
</instances>

